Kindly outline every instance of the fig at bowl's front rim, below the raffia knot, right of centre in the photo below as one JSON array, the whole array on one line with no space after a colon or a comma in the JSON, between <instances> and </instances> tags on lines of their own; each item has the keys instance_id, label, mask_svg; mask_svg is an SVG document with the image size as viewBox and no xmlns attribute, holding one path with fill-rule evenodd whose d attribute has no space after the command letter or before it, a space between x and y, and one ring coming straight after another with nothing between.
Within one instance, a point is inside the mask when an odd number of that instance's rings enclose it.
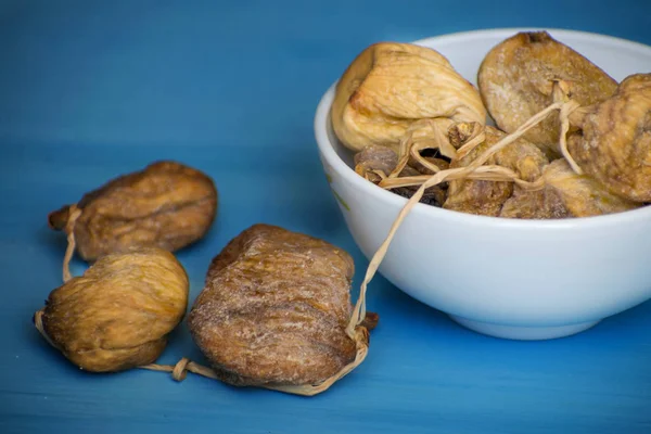
<instances>
[{"instance_id":1,"label":"fig at bowl's front rim, below the raffia knot, right of centre","mask_svg":"<svg viewBox=\"0 0 651 434\"><path fill-rule=\"evenodd\" d=\"M577 175L563 158L553 161L542 171L545 187L525 191L515 187L500 217L556 219L590 217L622 213L639 204L610 193L586 175Z\"/></svg>"}]
</instances>

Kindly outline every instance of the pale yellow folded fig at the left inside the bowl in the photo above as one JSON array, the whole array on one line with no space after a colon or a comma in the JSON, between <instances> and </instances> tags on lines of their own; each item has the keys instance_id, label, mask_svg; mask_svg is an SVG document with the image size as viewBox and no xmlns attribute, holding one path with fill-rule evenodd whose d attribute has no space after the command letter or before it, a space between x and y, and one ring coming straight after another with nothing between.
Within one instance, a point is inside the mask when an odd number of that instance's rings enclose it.
<instances>
[{"instance_id":1,"label":"pale yellow folded fig at the left inside the bowl","mask_svg":"<svg viewBox=\"0 0 651 434\"><path fill-rule=\"evenodd\" d=\"M397 150L409 126L423 118L486 122L478 91L435 50L410 43L372 44L336 86L332 126L353 151L369 144Z\"/></svg>"}]
</instances>

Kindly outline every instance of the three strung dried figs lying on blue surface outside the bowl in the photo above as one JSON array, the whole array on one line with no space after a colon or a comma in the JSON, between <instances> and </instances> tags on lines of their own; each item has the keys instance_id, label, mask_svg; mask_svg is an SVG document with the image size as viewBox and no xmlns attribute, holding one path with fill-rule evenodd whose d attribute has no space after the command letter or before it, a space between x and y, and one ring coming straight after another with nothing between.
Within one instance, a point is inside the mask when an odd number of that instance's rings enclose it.
<instances>
[{"instance_id":1,"label":"three strung dried figs lying on blue surface outside the bowl","mask_svg":"<svg viewBox=\"0 0 651 434\"><path fill-rule=\"evenodd\" d=\"M370 314L352 323L350 256L326 241L255 225L207 270L189 316L210 367L154 365L188 308L189 279L173 252L202 239L217 213L205 174L176 162L118 177L49 216L68 248L63 285L34 316L43 337L91 372L186 371L240 386L323 392L366 357ZM92 263L73 277L75 252Z\"/></svg>"}]
</instances>

